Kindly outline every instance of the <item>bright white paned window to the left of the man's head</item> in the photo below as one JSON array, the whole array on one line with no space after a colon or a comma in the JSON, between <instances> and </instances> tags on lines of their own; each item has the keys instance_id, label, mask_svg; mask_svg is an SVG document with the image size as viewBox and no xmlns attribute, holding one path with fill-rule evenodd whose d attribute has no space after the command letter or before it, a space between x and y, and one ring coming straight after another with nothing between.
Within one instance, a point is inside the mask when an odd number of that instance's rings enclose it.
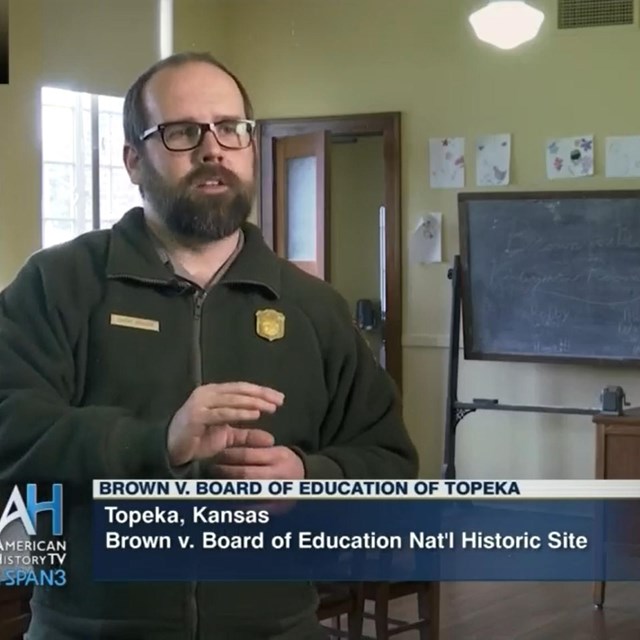
<instances>
[{"instance_id":1,"label":"bright white paned window to the left of the man's head","mask_svg":"<svg viewBox=\"0 0 640 640\"><path fill-rule=\"evenodd\" d=\"M124 99L43 87L42 246L110 227L141 205L122 161Z\"/></svg>"}]
</instances>

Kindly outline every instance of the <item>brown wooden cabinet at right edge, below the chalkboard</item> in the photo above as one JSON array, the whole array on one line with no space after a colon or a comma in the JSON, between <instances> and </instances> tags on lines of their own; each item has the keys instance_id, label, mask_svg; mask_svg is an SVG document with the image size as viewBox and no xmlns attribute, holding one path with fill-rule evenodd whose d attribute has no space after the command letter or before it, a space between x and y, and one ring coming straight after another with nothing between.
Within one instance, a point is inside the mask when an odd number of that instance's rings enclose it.
<instances>
[{"instance_id":1,"label":"brown wooden cabinet at right edge, below the chalkboard","mask_svg":"<svg viewBox=\"0 0 640 640\"><path fill-rule=\"evenodd\" d=\"M623 416L598 414L596 424L596 478L607 480L640 479L640 407ZM625 527L633 546L640 537L640 511L634 508L628 514L629 526ZM626 522L626 520L625 520ZM604 604L605 583L597 582L593 588L593 603Z\"/></svg>"}]
</instances>

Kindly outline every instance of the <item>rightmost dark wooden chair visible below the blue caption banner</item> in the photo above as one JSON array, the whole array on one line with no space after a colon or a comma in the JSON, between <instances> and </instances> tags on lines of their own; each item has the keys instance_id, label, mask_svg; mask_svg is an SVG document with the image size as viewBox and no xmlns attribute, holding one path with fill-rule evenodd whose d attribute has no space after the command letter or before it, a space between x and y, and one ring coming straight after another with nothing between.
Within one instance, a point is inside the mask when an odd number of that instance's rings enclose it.
<instances>
[{"instance_id":1,"label":"rightmost dark wooden chair visible below the blue caption banner","mask_svg":"<svg viewBox=\"0 0 640 640\"><path fill-rule=\"evenodd\" d=\"M389 603L398 598L415 595L418 619L415 622L389 617ZM365 600L373 601L373 618L377 640L389 640L398 633L417 629L420 640L440 638L440 583L438 582L367 582L364 584Z\"/></svg>"}]
</instances>

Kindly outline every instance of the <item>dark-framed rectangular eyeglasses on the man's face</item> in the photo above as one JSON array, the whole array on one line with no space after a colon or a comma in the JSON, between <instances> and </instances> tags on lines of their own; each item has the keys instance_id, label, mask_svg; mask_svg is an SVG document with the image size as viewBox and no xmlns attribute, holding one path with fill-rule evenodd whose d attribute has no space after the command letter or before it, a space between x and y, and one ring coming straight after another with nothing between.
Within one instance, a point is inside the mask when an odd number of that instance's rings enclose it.
<instances>
[{"instance_id":1,"label":"dark-framed rectangular eyeglasses on the man's face","mask_svg":"<svg viewBox=\"0 0 640 640\"><path fill-rule=\"evenodd\" d=\"M207 131L226 149L246 149L253 138L255 120L221 120L220 122L165 122L142 133L146 140L160 133L162 143L169 151L191 151L202 144Z\"/></svg>"}]
</instances>

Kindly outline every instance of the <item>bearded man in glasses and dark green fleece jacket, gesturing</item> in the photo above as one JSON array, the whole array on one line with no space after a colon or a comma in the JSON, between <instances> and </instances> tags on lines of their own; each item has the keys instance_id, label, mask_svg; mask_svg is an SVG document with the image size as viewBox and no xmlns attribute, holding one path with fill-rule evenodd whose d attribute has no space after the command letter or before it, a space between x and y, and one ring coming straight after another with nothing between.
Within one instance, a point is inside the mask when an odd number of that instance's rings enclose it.
<instances>
[{"instance_id":1,"label":"bearded man in glasses and dark green fleece jacket, gesturing","mask_svg":"<svg viewBox=\"0 0 640 640\"><path fill-rule=\"evenodd\" d=\"M130 88L143 206L31 256L0 294L0 481L65 484L66 585L28 640L318 640L310 583L95 582L101 478L413 478L395 388L327 283L249 222L253 109L209 54ZM277 580L277 576L274 576Z\"/></svg>"}]
</instances>

